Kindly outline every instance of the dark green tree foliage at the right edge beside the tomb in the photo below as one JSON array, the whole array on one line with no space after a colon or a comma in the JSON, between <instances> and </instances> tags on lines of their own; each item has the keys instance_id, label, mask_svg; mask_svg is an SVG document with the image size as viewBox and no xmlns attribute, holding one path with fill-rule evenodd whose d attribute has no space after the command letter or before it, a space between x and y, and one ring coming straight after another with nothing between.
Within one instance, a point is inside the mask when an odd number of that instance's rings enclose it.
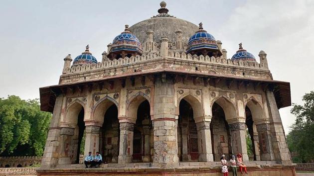
<instances>
[{"instance_id":1,"label":"dark green tree foliage at the right edge beside the tomb","mask_svg":"<svg viewBox=\"0 0 314 176\"><path fill-rule=\"evenodd\" d=\"M288 147L295 163L309 163L314 155L314 91L303 96L304 105L293 104L296 122L287 135Z\"/></svg>"}]
</instances>

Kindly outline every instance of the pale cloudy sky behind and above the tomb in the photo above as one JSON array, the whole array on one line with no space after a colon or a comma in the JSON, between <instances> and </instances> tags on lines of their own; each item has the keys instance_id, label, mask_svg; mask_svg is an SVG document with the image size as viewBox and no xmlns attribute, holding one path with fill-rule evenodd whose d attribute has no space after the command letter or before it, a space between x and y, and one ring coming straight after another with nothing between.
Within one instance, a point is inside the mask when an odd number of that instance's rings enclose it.
<instances>
[{"instance_id":1,"label":"pale cloudy sky behind and above the tomb","mask_svg":"<svg viewBox=\"0 0 314 176\"><path fill-rule=\"evenodd\" d=\"M101 61L107 45L130 26L157 14L161 0L6 0L0 5L0 97L39 98L57 85L63 58L87 44ZM274 80L291 83L293 103L314 90L314 0L166 0L169 14L222 41L228 58L238 44L267 53ZM259 61L259 59L257 59ZM285 131L295 121L280 109Z\"/></svg>"}]
</instances>

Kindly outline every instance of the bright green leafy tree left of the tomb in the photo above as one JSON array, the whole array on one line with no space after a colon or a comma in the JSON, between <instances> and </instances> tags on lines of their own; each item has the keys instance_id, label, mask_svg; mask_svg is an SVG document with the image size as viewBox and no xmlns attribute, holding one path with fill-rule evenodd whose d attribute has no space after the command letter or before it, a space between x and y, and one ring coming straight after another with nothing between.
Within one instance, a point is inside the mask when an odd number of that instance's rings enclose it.
<instances>
[{"instance_id":1,"label":"bright green leafy tree left of the tomb","mask_svg":"<svg viewBox=\"0 0 314 176\"><path fill-rule=\"evenodd\" d=\"M50 113L40 111L38 99L0 98L0 155L41 156L50 119Z\"/></svg>"}]
</instances>

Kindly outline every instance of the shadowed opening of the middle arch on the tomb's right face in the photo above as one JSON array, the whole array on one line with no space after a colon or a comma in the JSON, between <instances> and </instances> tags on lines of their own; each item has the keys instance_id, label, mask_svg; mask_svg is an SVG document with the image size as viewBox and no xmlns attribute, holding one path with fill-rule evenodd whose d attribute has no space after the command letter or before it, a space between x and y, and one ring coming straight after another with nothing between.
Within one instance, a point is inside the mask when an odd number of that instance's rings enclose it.
<instances>
[{"instance_id":1,"label":"shadowed opening of the middle arch on the tomb's right face","mask_svg":"<svg viewBox=\"0 0 314 176\"><path fill-rule=\"evenodd\" d=\"M226 156L226 159L231 158L232 147L229 126L224 110L217 103L214 103L212 106L210 131L214 161L220 161L222 154Z\"/></svg>"}]
</instances>

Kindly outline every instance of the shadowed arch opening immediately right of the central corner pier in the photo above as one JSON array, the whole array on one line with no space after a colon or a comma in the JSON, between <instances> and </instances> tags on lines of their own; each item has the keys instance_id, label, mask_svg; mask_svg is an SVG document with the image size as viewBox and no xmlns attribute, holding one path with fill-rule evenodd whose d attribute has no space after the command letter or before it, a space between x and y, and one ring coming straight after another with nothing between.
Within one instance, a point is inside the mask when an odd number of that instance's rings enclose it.
<instances>
[{"instance_id":1,"label":"shadowed arch opening immediately right of the central corner pier","mask_svg":"<svg viewBox=\"0 0 314 176\"><path fill-rule=\"evenodd\" d=\"M180 161L198 161L197 128L193 118L193 108L182 99L178 118L178 157Z\"/></svg>"}]
</instances>

